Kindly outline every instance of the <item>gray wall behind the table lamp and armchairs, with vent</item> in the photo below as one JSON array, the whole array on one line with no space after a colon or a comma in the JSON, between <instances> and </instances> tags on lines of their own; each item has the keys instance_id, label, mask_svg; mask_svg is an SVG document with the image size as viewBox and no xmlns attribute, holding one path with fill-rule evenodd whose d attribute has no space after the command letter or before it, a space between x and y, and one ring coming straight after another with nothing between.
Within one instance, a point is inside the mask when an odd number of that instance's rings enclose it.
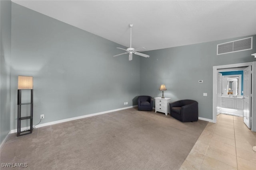
<instances>
[{"instance_id":1,"label":"gray wall behind the table lamp and armchairs, with vent","mask_svg":"<svg viewBox=\"0 0 256 170\"><path fill-rule=\"evenodd\" d=\"M150 57L142 57L140 61L140 95L160 97L162 94L158 89L160 84L165 84L165 97L172 98L173 102L196 100L199 117L212 119L212 67L256 61L251 55L256 53L256 35L253 36L252 50L216 55L217 44L242 38L245 37L145 52Z\"/></svg>"}]
</instances>

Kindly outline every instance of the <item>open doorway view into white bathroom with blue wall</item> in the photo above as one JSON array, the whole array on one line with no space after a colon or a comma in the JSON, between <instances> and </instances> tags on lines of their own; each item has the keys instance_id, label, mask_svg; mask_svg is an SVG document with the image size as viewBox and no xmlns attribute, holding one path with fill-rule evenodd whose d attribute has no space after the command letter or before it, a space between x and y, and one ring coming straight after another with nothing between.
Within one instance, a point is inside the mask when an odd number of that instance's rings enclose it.
<instances>
[{"instance_id":1,"label":"open doorway view into white bathroom with blue wall","mask_svg":"<svg viewBox=\"0 0 256 170\"><path fill-rule=\"evenodd\" d=\"M217 115L241 117L249 129L251 129L251 67L217 69Z\"/></svg>"}]
</instances>

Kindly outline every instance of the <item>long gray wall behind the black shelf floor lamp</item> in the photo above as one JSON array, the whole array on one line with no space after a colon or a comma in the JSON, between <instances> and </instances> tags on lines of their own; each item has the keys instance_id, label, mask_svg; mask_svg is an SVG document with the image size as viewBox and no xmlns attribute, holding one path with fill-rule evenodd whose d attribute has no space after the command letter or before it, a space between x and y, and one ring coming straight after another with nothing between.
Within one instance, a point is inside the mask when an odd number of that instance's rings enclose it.
<instances>
[{"instance_id":1,"label":"long gray wall behind the black shelf floor lamp","mask_svg":"<svg viewBox=\"0 0 256 170\"><path fill-rule=\"evenodd\" d=\"M11 129L18 75L34 77L34 124L40 114L47 123L136 105L140 59L113 57L116 47L124 48L12 3Z\"/></svg>"}]
</instances>

